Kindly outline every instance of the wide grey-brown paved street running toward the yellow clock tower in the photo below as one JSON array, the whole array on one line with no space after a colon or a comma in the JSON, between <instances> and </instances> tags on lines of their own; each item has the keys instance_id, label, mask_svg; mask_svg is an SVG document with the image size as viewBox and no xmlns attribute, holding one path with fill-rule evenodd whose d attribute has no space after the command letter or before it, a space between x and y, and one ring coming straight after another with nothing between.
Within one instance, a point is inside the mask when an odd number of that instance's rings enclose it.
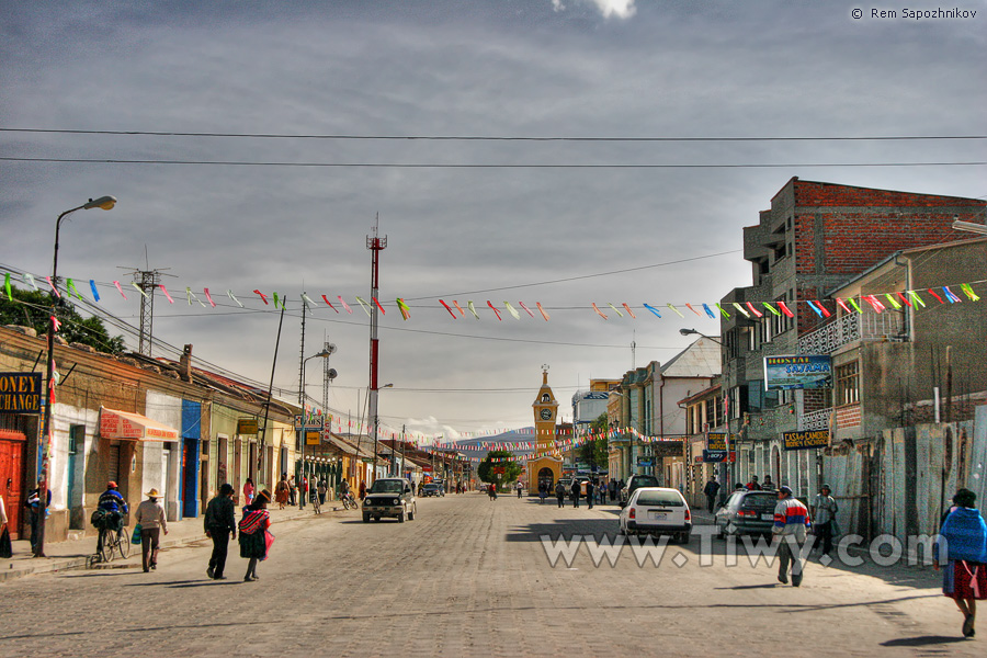
<instances>
[{"instance_id":1,"label":"wide grey-brown paved street running toward the yellow clock tower","mask_svg":"<svg viewBox=\"0 0 987 658\"><path fill-rule=\"evenodd\" d=\"M553 568L540 535L616 530L587 510L469 494L419 501L413 522L340 512L288 521L260 580L205 578L205 543L156 572L76 570L0 583L0 656L980 656L929 569L699 566L700 541L658 568L586 547ZM723 542L713 544L723 553ZM681 568L672 558L688 558ZM677 561L681 559L677 558ZM982 634L987 635L987 621Z\"/></svg>"}]
</instances>

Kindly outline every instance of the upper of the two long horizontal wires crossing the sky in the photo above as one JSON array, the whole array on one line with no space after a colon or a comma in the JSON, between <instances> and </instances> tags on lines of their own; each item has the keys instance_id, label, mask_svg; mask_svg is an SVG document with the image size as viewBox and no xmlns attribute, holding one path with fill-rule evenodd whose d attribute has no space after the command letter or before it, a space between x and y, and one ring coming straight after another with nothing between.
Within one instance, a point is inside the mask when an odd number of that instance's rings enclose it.
<instances>
[{"instance_id":1,"label":"upper of the two long horizontal wires crossing the sky","mask_svg":"<svg viewBox=\"0 0 987 658\"><path fill-rule=\"evenodd\" d=\"M496 135L320 135L286 133L193 133L177 131L86 131L78 128L0 128L2 133L45 133L59 135L124 135L149 137L236 137L251 139L351 139L375 141L918 141L987 139L987 135L856 135L830 137L571 137L571 136L496 136Z\"/></svg>"}]
</instances>

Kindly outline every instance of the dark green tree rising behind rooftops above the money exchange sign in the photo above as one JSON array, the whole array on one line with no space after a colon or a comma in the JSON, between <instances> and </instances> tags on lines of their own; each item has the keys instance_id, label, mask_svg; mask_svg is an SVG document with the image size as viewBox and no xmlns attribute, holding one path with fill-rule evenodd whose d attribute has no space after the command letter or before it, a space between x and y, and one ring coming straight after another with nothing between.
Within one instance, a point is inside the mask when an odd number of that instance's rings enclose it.
<instances>
[{"instance_id":1,"label":"dark green tree rising behind rooftops above the money exchange sign","mask_svg":"<svg viewBox=\"0 0 987 658\"><path fill-rule=\"evenodd\" d=\"M48 317L52 298L47 293L26 291L11 286L13 300L0 295L0 325L32 327L38 336L48 332ZM126 350L122 336L111 337L98 317L84 318L79 315L65 295L55 302L55 315L61 322L58 336L72 343L82 343L110 354L122 354Z\"/></svg>"}]
</instances>

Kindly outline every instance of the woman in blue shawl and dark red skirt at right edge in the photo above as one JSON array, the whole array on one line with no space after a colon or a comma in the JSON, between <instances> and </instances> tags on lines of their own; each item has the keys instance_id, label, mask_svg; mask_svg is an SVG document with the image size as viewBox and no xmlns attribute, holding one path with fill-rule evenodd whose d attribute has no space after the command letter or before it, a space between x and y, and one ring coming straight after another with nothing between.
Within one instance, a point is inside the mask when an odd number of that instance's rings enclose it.
<instances>
[{"instance_id":1,"label":"woman in blue shawl and dark red skirt at right edge","mask_svg":"<svg viewBox=\"0 0 987 658\"><path fill-rule=\"evenodd\" d=\"M942 593L963 613L963 636L976 634L977 601L987 599L987 524L974 504L977 495L960 489L932 545L934 569L942 566ZM940 545L944 542L943 545Z\"/></svg>"}]
</instances>

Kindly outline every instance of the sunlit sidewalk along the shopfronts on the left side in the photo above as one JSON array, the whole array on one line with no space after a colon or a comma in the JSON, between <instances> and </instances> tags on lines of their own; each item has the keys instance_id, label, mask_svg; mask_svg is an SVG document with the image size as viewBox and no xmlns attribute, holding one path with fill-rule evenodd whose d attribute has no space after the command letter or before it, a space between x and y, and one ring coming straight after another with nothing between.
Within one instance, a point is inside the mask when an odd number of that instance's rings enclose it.
<instances>
[{"instance_id":1,"label":"sunlit sidewalk along the shopfronts on the left side","mask_svg":"<svg viewBox=\"0 0 987 658\"><path fill-rule=\"evenodd\" d=\"M334 507L333 507L334 506ZM310 504L304 510L297 507L284 510L276 509L277 506L269 508L271 512L271 521L280 523L299 519L315 514ZM322 513L332 513L342 511L339 501L326 501L322 506ZM239 510L237 510L239 515ZM127 532L133 532L134 526L129 525ZM161 535L160 548L175 548L192 544L195 542L207 542L202 527L202 517L195 519L183 519L168 523L168 534ZM83 569L89 565L95 553L97 536L86 535L81 540L69 540L67 542L45 543L45 555L47 557L35 558L31 555L31 542L27 540L18 540L13 542L13 557L10 559L0 559L0 582L27 576L29 574L47 574L52 571L64 571L66 569ZM95 564L97 569L121 569L121 568L139 568L140 567L140 546L131 546L131 556L127 559L116 557L107 564Z\"/></svg>"}]
</instances>

